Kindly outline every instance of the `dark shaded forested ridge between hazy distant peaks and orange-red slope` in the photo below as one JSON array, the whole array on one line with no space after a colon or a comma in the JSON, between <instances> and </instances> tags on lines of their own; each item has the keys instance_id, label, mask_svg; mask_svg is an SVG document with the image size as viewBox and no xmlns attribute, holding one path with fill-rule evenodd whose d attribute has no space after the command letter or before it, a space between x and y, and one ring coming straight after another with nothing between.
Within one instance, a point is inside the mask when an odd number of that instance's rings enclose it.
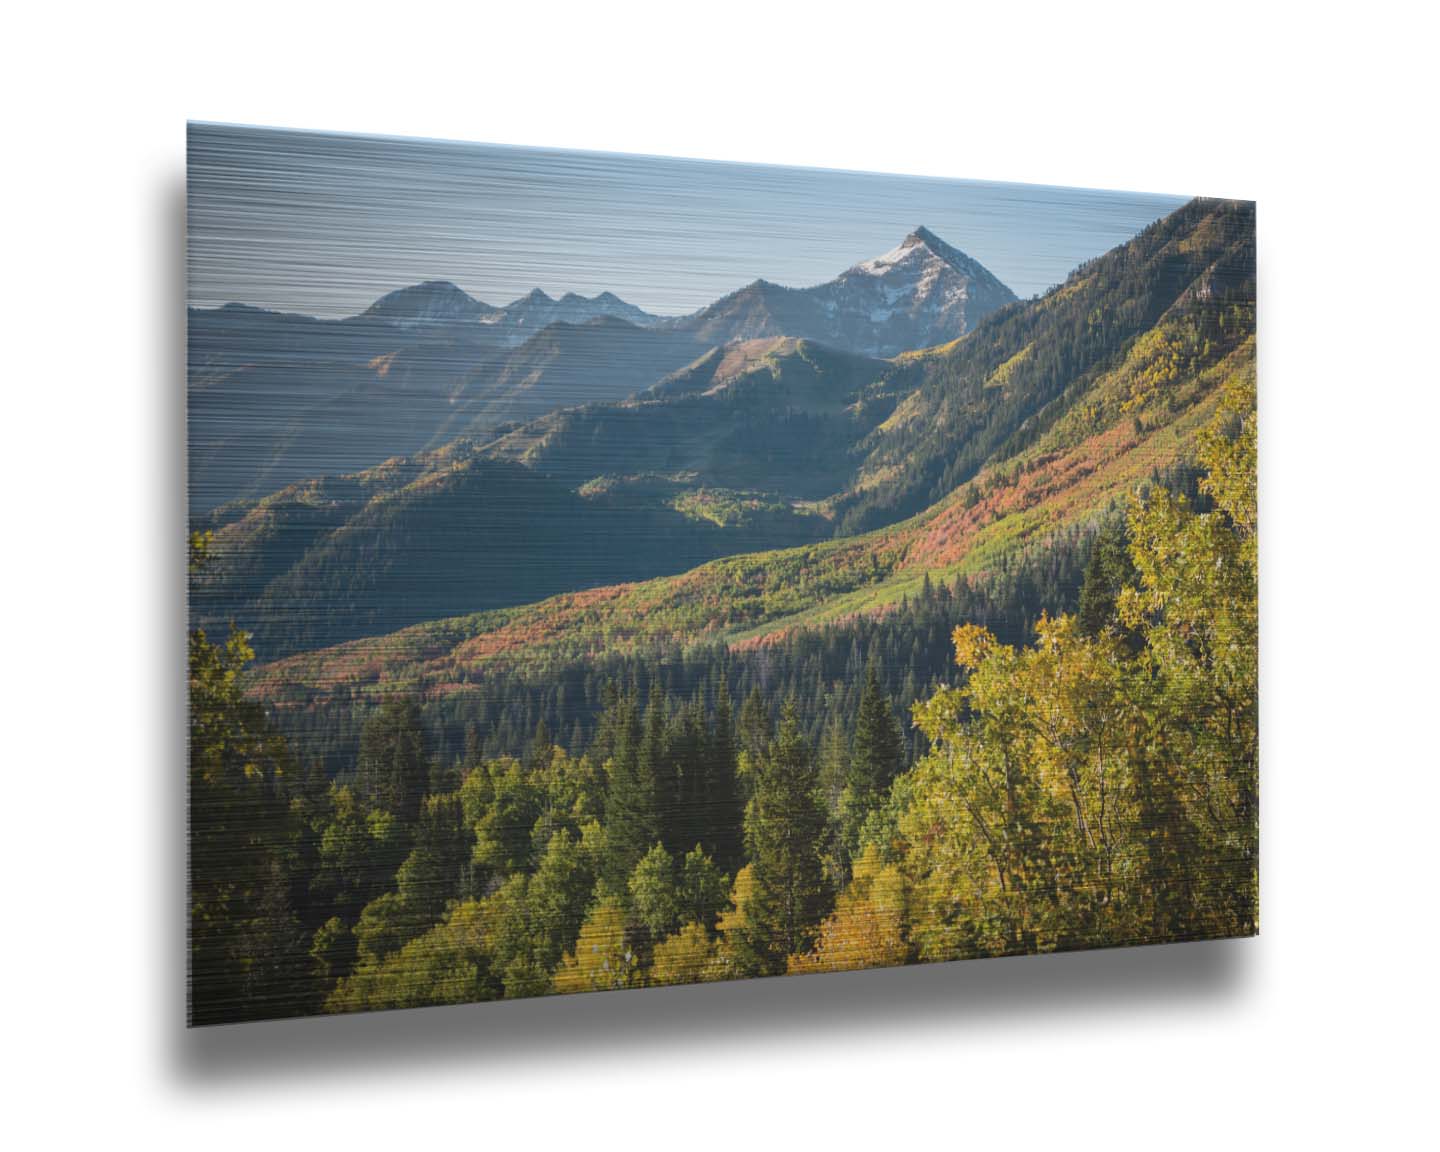
<instances>
[{"instance_id":1,"label":"dark shaded forested ridge between hazy distant peaks and orange-red slope","mask_svg":"<svg viewBox=\"0 0 1440 1152\"><path fill-rule=\"evenodd\" d=\"M1248 206L1194 202L955 344L893 361L804 340L732 344L625 403L559 409L494 439L223 510L212 520L212 570L194 586L199 619L238 619L262 658L275 660L851 536L922 513L963 484L976 501L1014 480L999 461L1053 471L1053 459L1028 451L1041 442L1063 449L1067 467L1122 448L1159 452L1153 467L1166 467L1172 420L1194 399L1187 382L1244 356L1251 236ZM514 356L544 361L539 348L562 328ZM1060 439L1050 436L1056 426ZM1133 444L1117 444L1122 435ZM982 467L991 471L972 484ZM1021 490L1037 498L1034 484ZM544 539L552 530L557 546L583 543L569 553L573 564L557 564ZM667 544L657 550L660 530ZM861 583L847 580L848 590Z\"/></svg>"}]
</instances>

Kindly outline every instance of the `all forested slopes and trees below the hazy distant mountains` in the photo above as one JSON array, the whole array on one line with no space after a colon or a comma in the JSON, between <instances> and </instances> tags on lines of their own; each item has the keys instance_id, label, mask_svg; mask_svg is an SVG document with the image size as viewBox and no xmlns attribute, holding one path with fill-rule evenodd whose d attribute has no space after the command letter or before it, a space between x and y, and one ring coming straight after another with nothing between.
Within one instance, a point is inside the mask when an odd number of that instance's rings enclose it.
<instances>
[{"instance_id":1,"label":"all forested slopes and trees below the hazy distant mountains","mask_svg":"<svg viewBox=\"0 0 1440 1152\"><path fill-rule=\"evenodd\" d=\"M196 531L193 1018L1253 933L1253 219Z\"/></svg>"}]
</instances>

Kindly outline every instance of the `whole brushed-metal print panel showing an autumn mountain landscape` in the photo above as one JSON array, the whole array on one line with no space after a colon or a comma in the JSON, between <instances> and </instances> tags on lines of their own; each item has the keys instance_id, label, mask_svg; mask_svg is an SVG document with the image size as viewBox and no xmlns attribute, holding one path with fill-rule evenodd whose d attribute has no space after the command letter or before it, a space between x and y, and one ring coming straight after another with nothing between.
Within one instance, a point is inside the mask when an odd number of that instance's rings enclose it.
<instances>
[{"instance_id":1,"label":"whole brushed-metal print panel showing an autumn mountain landscape","mask_svg":"<svg viewBox=\"0 0 1440 1152\"><path fill-rule=\"evenodd\" d=\"M189 131L190 1020L1244 936L1244 202Z\"/></svg>"}]
</instances>

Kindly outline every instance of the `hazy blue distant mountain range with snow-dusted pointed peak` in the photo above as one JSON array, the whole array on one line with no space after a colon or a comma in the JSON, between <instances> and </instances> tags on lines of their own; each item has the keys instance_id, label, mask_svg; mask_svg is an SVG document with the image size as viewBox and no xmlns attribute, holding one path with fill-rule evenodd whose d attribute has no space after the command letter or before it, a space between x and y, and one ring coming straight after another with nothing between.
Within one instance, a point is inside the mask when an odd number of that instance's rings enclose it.
<instances>
[{"instance_id":1,"label":"hazy blue distant mountain range with snow-dusted pointed peak","mask_svg":"<svg viewBox=\"0 0 1440 1152\"><path fill-rule=\"evenodd\" d=\"M1014 298L927 229L901 249L903 259L861 262L814 288L760 281L759 298L740 289L688 318L654 317L609 291L554 300L534 288L497 308L444 279L344 320L190 310L192 516L317 471L361 471L456 435L619 400L752 330L873 356L953 340Z\"/></svg>"}]
</instances>

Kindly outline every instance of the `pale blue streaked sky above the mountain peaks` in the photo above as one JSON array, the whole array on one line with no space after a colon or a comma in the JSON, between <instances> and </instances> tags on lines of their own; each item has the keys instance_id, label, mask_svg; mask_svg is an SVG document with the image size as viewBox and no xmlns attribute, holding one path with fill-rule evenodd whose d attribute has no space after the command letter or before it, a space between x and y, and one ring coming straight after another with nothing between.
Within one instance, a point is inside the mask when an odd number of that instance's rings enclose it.
<instances>
[{"instance_id":1,"label":"pale blue streaked sky above the mountain peaks","mask_svg":"<svg viewBox=\"0 0 1440 1152\"><path fill-rule=\"evenodd\" d=\"M425 279L681 314L819 284L917 225L1028 297L1185 199L209 124L189 145L190 304L312 315Z\"/></svg>"}]
</instances>

